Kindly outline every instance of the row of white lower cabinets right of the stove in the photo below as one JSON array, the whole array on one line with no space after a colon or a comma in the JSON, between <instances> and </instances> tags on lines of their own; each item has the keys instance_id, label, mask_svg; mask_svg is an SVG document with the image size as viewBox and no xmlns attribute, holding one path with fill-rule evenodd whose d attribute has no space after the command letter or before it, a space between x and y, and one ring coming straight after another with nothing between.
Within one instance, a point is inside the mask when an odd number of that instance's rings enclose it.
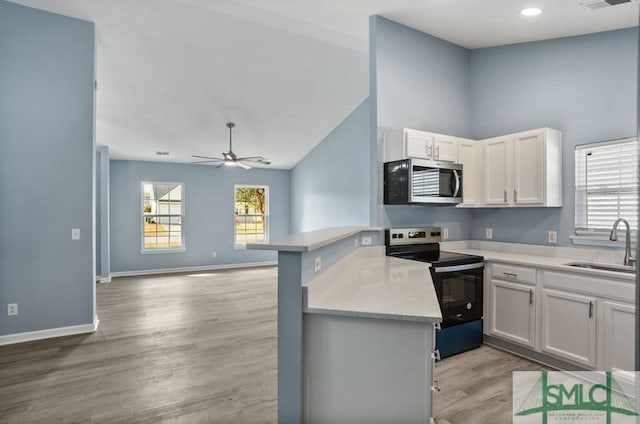
<instances>
[{"instance_id":1,"label":"row of white lower cabinets right of the stove","mask_svg":"<svg viewBox=\"0 0 640 424\"><path fill-rule=\"evenodd\" d=\"M488 336L585 369L635 369L633 280L489 261L485 290Z\"/></svg>"}]
</instances>

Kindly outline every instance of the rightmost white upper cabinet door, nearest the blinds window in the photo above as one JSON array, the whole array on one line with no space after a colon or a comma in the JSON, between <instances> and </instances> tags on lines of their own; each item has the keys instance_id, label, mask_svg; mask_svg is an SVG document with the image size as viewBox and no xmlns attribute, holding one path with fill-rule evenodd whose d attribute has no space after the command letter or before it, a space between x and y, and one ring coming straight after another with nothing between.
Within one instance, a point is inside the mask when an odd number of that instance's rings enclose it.
<instances>
[{"instance_id":1,"label":"rightmost white upper cabinet door, nearest the blinds window","mask_svg":"<svg viewBox=\"0 0 640 424\"><path fill-rule=\"evenodd\" d=\"M544 203L544 142L543 131L529 131L513 136L513 199L516 205Z\"/></svg>"}]
</instances>

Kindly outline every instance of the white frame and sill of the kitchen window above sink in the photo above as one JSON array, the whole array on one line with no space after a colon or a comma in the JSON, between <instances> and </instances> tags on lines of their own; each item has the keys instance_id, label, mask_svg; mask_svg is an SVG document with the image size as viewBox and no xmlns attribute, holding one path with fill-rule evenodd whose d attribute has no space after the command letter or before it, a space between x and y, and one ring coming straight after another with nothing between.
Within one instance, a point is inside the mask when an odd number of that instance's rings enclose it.
<instances>
[{"instance_id":1,"label":"white frame and sill of the kitchen window above sink","mask_svg":"<svg viewBox=\"0 0 640 424\"><path fill-rule=\"evenodd\" d=\"M598 147L598 146L607 146L607 145L615 145L622 144L635 141L637 143L636 146L636 154L637 158L640 158L640 140L637 137L625 137L614 140L607 140L601 142L594 143L586 143L574 146L574 213L573 213L573 235L570 236L573 244L576 245L586 245L586 246L601 246L601 247L609 247L609 248L624 248L626 244L626 226L621 225L618 226L618 240L611 241L609 240L609 235L611 234L611 229L588 229L588 228L578 228L578 219L577 219L577 211L578 211L578 202L577 202L577 166L576 166L576 157L575 153L578 150L586 150L589 147ZM640 180L636 180L636 191L640 189ZM636 206L636 214L640 212L640 207ZM638 217L636 216L636 219ZM638 235L637 228L631 228L631 242L636 243Z\"/></svg>"}]
</instances>

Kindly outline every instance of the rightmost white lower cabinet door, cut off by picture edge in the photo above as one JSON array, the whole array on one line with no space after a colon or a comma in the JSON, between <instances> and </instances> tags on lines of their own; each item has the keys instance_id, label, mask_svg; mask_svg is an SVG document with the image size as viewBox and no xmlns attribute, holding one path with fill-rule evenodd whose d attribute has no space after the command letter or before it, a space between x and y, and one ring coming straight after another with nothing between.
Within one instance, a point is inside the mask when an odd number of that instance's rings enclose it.
<instances>
[{"instance_id":1,"label":"rightmost white lower cabinet door, cut off by picture edge","mask_svg":"<svg viewBox=\"0 0 640 424\"><path fill-rule=\"evenodd\" d=\"M604 368L611 371L635 370L636 308L633 305L604 302Z\"/></svg>"}]
</instances>

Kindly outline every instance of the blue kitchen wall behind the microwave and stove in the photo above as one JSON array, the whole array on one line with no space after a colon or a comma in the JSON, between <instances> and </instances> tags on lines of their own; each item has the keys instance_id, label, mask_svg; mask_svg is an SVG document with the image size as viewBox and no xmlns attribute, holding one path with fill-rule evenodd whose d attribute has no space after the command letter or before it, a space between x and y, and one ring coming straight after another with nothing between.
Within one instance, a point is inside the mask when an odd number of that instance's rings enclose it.
<instances>
[{"instance_id":1,"label":"blue kitchen wall behind the microwave and stove","mask_svg":"<svg viewBox=\"0 0 640 424\"><path fill-rule=\"evenodd\" d=\"M388 19L370 21L375 60L370 78L377 101L377 127L416 128L468 137L471 134L469 51ZM380 135L377 186L382 186ZM441 206L384 206L380 191L375 223L385 227L440 225L450 239L471 234L471 212Z\"/></svg>"}]
</instances>

